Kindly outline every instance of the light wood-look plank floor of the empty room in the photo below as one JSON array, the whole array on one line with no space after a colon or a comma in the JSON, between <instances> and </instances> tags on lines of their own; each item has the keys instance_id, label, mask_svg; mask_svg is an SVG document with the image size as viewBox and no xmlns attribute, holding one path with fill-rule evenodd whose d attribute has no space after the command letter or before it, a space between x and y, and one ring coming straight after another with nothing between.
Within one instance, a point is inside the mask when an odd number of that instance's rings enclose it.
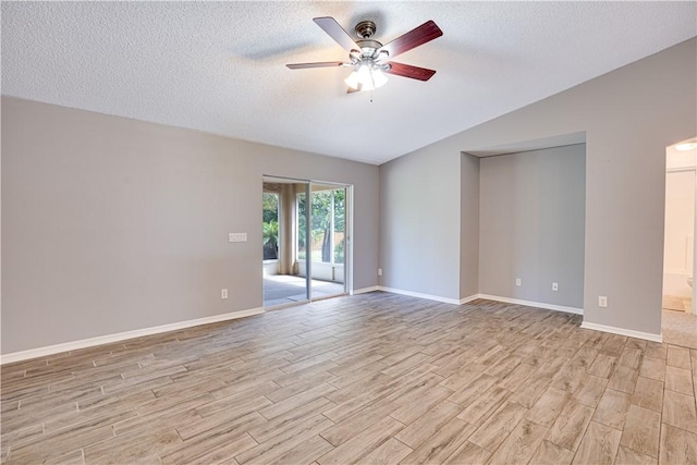
<instances>
[{"instance_id":1,"label":"light wood-look plank floor of the empty room","mask_svg":"<svg viewBox=\"0 0 697 465\"><path fill-rule=\"evenodd\" d=\"M697 351L387 293L2 367L2 462L697 463Z\"/></svg>"}]
</instances>

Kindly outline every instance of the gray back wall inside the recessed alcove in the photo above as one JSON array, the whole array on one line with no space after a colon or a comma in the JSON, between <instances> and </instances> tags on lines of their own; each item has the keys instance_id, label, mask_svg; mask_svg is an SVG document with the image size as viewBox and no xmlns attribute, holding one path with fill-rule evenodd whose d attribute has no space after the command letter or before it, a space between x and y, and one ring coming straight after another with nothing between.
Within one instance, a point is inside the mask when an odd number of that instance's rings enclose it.
<instances>
[{"instance_id":1,"label":"gray back wall inside the recessed alcove","mask_svg":"<svg viewBox=\"0 0 697 465\"><path fill-rule=\"evenodd\" d=\"M585 144L481 159L480 293L583 308L585 159Z\"/></svg>"}]
</instances>

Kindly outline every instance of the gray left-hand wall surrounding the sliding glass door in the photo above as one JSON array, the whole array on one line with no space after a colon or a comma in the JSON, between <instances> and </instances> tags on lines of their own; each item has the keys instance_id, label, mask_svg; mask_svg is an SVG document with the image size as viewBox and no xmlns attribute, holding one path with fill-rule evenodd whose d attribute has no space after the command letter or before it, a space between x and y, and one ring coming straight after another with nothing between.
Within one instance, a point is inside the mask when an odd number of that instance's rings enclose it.
<instances>
[{"instance_id":1,"label":"gray left-hand wall surrounding the sliding glass door","mask_svg":"<svg viewBox=\"0 0 697 465\"><path fill-rule=\"evenodd\" d=\"M3 97L2 353L260 307L262 174L355 185L377 285L377 167Z\"/></svg>"}]
</instances>

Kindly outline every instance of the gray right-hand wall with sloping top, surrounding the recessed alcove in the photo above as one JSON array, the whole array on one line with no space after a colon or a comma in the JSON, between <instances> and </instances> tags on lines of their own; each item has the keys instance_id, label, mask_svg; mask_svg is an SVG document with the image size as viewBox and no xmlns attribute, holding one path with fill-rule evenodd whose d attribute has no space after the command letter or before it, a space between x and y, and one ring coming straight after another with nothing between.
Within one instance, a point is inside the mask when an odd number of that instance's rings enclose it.
<instances>
[{"instance_id":1,"label":"gray right-hand wall with sloping top, surrounding the recessed alcove","mask_svg":"<svg viewBox=\"0 0 697 465\"><path fill-rule=\"evenodd\" d=\"M697 132L696 74L697 41L690 39L381 166L381 208L419 218L407 223L399 247L387 241L395 241L404 221L400 215L383 218L381 264L404 262L402 255L435 265L406 268L390 284L468 295L451 276L461 254L444 246L466 221L458 205L461 151L585 131L584 319L659 334L665 147ZM401 195L408 183L436 187L417 189L415 205ZM441 247L421 248L426 238ZM599 295L608 296L608 308L597 306Z\"/></svg>"}]
</instances>

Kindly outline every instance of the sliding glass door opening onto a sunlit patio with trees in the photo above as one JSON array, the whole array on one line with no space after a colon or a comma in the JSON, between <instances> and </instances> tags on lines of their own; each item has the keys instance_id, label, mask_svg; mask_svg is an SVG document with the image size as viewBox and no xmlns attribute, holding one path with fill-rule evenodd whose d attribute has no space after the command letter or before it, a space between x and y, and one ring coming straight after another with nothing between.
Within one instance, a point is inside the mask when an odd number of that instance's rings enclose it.
<instances>
[{"instance_id":1,"label":"sliding glass door opening onto a sunlit patio with trees","mask_svg":"<svg viewBox=\"0 0 697 465\"><path fill-rule=\"evenodd\" d=\"M345 295L351 186L264 176L264 306Z\"/></svg>"}]
</instances>

